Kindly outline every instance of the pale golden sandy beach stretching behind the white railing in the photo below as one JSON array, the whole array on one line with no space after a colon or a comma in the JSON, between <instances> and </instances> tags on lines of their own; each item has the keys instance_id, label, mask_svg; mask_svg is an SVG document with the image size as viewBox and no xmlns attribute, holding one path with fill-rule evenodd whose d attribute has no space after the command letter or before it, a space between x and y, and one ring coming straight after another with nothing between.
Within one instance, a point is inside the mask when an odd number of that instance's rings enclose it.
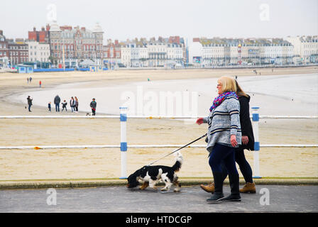
<instances>
[{"instance_id":1,"label":"pale golden sandy beach stretching behind the white railing","mask_svg":"<svg viewBox=\"0 0 318 227\"><path fill-rule=\"evenodd\" d=\"M273 72L271 69L258 69L257 71L261 72L259 78L266 78L271 75L280 77L292 74L318 74L318 67L275 68ZM46 102L45 105L41 106L36 104L35 100L32 112L29 113L25 109L26 103L19 102L17 98L28 92L48 90L53 92L53 101L56 87L62 86L62 89L67 91L67 84L72 84L72 89L76 87L79 89L78 91L81 88L89 87L92 89L96 87L98 89L102 86L112 89L133 86L131 89L136 89L136 83L147 82L149 78L154 83L173 81L178 87L178 80L180 83L186 79L213 80L221 75L237 75L240 82L240 80L244 81L244 77L250 78L255 74L253 69L119 70L34 73L32 75L2 73L0 74L0 115L70 115L70 111L55 113L54 105L52 106L53 111L49 112L45 107ZM33 80L31 83L27 83L26 78L30 76ZM38 87L40 80L42 82L41 88ZM246 83L248 82L246 81ZM215 84L212 84L212 87L214 88ZM270 89L280 88L271 87ZM260 95L262 95L261 93L262 91L260 91ZM74 95L76 96L77 93ZM78 96L80 95L79 93ZM109 94L105 93L105 95L108 98ZM116 93L114 93L115 95ZM306 98L309 96L309 94L297 94L297 98L302 97L302 95ZM313 96L317 96L317 92ZM89 106L89 99L92 99L92 96L87 97L87 100L79 99L79 113L77 115L85 115L87 107L84 108L84 106ZM207 101L203 100L203 102ZM287 101L290 100L285 100L285 102ZM292 101L295 101L295 106L301 103L301 100ZM98 100L97 104L99 104ZM280 104L276 105L279 108ZM298 113L297 108L290 109L288 115L317 115L316 103L312 106L313 108L305 111L304 114ZM289 112L284 111L286 110L282 108L281 113ZM105 113L107 113L106 110ZM97 114L103 114L98 113L98 107ZM107 114L116 113L113 111ZM199 111L198 114L204 114L204 112ZM260 114L283 115L267 112ZM194 123L168 119L128 119L127 131L128 145L187 144L206 133L207 126L204 124L197 126ZM120 123L119 119L0 119L0 138L0 146L119 145ZM260 122L260 141L261 145L318 144L318 121L263 119ZM199 140L195 144L204 143L204 140ZM174 149L129 149L127 153L128 174L163 157L172 150ZM246 151L245 153L253 168L253 152ZM212 177L207 151L204 148L185 148L182 149L182 155L185 163L178 174L180 177ZM0 180L118 178L121 171L120 159L119 149L0 150ZM172 165L173 161L174 157L171 155L157 163L158 165ZM318 177L317 148L261 148L260 172L262 177Z\"/></svg>"}]
</instances>

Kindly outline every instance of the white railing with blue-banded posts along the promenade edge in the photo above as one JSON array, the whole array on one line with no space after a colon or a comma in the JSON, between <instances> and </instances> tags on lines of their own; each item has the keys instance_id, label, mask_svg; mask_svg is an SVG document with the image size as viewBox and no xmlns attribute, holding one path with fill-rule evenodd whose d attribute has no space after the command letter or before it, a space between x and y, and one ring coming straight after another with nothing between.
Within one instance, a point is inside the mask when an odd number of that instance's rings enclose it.
<instances>
[{"instance_id":1,"label":"white railing with blue-banded posts along the promenade edge","mask_svg":"<svg viewBox=\"0 0 318 227\"><path fill-rule=\"evenodd\" d=\"M259 150L260 148L318 148L317 144L268 144L261 145L258 139L258 123L259 119L318 119L318 116L259 116L258 107L252 107L253 114L252 125L255 139L255 147L253 152L254 176L253 178L261 178L259 171ZM120 148L121 149L121 179L126 179L126 151L128 148L180 148L183 145L127 145L126 141L126 121L127 118L143 118L143 119L197 119L202 116L127 116L127 109L121 107L119 116L0 116L0 119L40 119L40 118L119 118L121 121L121 144L120 145L29 145L29 146L0 146L0 150L45 150L45 149L84 149L84 148ZM187 148L206 148L207 145L188 145Z\"/></svg>"}]
</instances>

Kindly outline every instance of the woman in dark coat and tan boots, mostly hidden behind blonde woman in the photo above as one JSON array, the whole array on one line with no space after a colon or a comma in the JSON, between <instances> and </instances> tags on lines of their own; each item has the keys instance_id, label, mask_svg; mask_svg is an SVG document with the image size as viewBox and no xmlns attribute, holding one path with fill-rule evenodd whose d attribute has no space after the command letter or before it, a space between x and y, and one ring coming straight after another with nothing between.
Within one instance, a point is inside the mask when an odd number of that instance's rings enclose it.
<instances>
[{"instance_id":1,"label":"woman in dark coat and tan boots, mostly hidden behind blonde woman","mask_svg":"<svg viewBox=\"0 0 318 227\"><path fill-rule=\"evenodd\" d=\"M244 155L244 149L246 150L254 150L254 135L253 135L253 127L250 118L250 106L249 101L251 97L246 94L243 89L241 89L240 85L236 82L236 94L238 96L238 101L240 102L240 123L241 123L241 131L242 131L242 145L238 148L235 148L235 161L240 167L242 175L245 179L245 185L242 189L240 189L241 193L256 193L255 183L253 182L253 173L251 165L249 165L246 157ZM223 164L223 163L222 163ZM226 167L222 165L223 178L225 179L227 176ZM204 189L206 192L214 193L214 183L209 185L201 184L200 187Z\"/></svg>"}]
</instances>

